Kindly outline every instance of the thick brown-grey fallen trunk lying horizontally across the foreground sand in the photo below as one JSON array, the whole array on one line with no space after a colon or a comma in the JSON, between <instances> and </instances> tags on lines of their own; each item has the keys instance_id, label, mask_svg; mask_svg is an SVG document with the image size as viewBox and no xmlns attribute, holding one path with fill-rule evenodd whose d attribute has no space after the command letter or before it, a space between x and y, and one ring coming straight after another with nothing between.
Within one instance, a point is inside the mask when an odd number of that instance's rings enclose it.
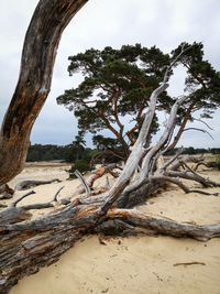
<instances>
[{"instance_id":1,"label":"thick brown-grey fallen trunk lying horizontally across the foreground sand","mask_svg":"<svg viewBox=\"0 0 220 294\"><path fill-rule=\"evenodd\" d=\"M58 260L81 236L92 231L144 228L178 238L206 241L220 237L220 224L189 226L155 218L138 209L109 209L100 216L97 205L69 205L53 215L21 225L0 225L0 291L8 291L24 275ZM146 232L148 233L148 232Z\"/></svg>"}]
</instances>

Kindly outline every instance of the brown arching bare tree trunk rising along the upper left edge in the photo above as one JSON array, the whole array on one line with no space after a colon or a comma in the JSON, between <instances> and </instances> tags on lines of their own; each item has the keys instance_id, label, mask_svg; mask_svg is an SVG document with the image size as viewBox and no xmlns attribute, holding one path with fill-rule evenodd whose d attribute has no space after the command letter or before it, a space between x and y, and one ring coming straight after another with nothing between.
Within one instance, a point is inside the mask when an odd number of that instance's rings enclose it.
<instances>
[{"instance_id":1,"label":"brown arching bare tree trunk rising along the upper left edge","mask_svg":"<svg viewBox=\"0 0 220 294\"><path fill-rule=\"evenodd\" d=\"M26 32L19 81L0 132L0 185L24 165L30 132L51 90L62 32L88 0L41 0Z\"/></svg>"}]
</instances>

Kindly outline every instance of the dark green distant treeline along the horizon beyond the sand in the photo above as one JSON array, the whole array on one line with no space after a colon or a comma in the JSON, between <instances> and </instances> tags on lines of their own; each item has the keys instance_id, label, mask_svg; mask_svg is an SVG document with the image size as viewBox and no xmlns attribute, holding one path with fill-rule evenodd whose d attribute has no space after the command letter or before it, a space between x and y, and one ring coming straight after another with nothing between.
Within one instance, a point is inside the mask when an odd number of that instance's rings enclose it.
<instances>
[{"instance_id":1,"label":"dark green distant treeline along the horizon beyond the sand","mask_svg":"<svg viewBox=\"0 0 220 294\"><path fill-rule=\"evenodd\" d=\"M99 151L99 150L98 150ZM54 161L61 160L65 162L75 162L85 157L90 157L91 153L98 152L97 149L92 150L89 148L85 148L81 144L77 144L73 142L68 145L42 145L42 144L34 144L29 148L28 152L28 162L35 162L35 161ZM174 149L167 152L167 155L173 155L177 152L177 149ZM193 146L185 148L185 154L202 154L202 153L212 153L212 154L220 154L219 149L195 149Z\"/></svg>"}]
</instances>

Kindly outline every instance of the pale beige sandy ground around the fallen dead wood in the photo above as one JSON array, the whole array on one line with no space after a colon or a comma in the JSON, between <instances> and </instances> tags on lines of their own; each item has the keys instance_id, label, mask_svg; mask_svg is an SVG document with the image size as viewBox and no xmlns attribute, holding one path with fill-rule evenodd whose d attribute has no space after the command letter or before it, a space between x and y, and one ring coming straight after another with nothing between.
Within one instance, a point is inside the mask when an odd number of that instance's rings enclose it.
<instances>
[{"instance_id":1,"label":"pale beige sandy ground around the fallen dead wood","mask_svg":"<svg viewBox=\"0 0 220 294\"><path fill-rule=\"evenodd\" d=\"M65 186L61 197L66 197L79 185L78 179L66 181L66 168L48 163L29 164L10 185L14 187L23 179L58 177L62 183L35 187L36 194L23 199L21 205L51 200L61 186ZM220 182L220 172L201 171L201 174ZM97 185L103 183L105 178ZM209 190L219 192L219 188ZM14 198L24 193L16 192ZM140 209L179 222L215 224L220 222L219 207L220 197L186 195L178 188L169 187ZM34 211L34 217L46 211ZM105 239L103 242L100 244L97 236L85 237L58 262L20 281L10 294L220 293L220 239L199 242L140 233ZM186 262L198 264L177 264Z\"/></svg>"}]
</instances>

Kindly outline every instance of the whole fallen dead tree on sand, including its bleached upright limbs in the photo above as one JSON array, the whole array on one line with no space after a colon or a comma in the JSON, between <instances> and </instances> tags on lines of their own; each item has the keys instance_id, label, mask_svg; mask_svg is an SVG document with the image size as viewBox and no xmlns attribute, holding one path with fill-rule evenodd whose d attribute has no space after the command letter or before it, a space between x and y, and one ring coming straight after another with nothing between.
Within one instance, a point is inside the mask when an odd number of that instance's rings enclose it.
<instances>
[{"instance_id":1,"label":"whole fallen dead tree on sand, including its bleached upright limbs","mask_svg":"<svg viewBox=\"0 0 220 294\"><path fill-rule=\"evenodd\" d=\"M220 184L204 178L193 171L186 164L187 157L183 159L180 155L183 150L172 159L161 161L157 164L158 159L168 149L177 110L187 97L177 99L174 104L169 120L158 142L151 148L145 148L157 97L167 88L168 70L174 64L175 61L167 68L163 83L152 92L139 138L132 146L123 171L110 189L92 197L87 193L87 195L77 197L70 203L67 202L66 206L63 206L62 200L59 200L61 206L57 208L54 207L54 202L57 202L57 194L52 202L46 204L16 207L16 204L24 197L34 194L34 192L30 192L9 207L0 210L1 293L7 293L22 276L35 273L41 266L57 261L62 253L88 232L108 233L116 229L134 232L136 228L142 228L146 229L146 233L151 230L156 233L176 238L188 237L199 241L220 237L220 224L183 225L166 217L158 218L144 214L136 208L127 208L134 205L132 202L135 204L143 202L143 197L155 193L167 181L179 186L186 193L193 190L180 182L182 177L194 179L204 186L220 186ZM184 172L178 170L179 166L183 166L183 162L185 162ZM112 168L113 166L111 166ZM136 170L139 170L138 173L135 173ZM87 179L86 185L92 185L106 172L109 172L109 168L99 168ZM85 190L84 186L77 190L77 194L81 190ZM31 209L44 207L54 207L54 210L41 218L29 220Z\"/></svg>"}]
</instances>

